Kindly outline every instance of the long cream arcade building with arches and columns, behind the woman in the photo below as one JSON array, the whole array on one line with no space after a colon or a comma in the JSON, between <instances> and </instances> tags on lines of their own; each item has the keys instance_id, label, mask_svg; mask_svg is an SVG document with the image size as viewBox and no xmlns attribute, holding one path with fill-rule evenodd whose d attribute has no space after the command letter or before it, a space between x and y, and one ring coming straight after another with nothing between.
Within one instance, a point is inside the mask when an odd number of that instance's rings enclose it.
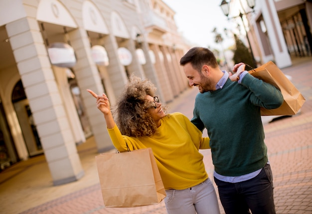
<instances>
[{"instance_id":1,"label":"long cream arcade building with arches and columns, behind the woman","mask_svg":"<svg viewBox=\"0 0 312 214\"><path fill-rule=\"evenodd\" d=\"M0 163L43 154L54 185L84 171L76 145L113 148L86 89L112 105L135 74L163 103L188 88L189 48L161 0L0 0Z\"/></svg>"}]
</instances>

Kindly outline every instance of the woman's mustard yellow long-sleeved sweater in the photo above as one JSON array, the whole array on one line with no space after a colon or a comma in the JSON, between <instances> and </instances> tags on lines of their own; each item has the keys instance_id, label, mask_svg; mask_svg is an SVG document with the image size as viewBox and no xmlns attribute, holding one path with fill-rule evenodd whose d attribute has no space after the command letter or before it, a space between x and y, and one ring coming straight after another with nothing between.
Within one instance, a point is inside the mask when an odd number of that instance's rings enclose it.
<instances>
[{"instance_id":1,"label":"woman's mustard yellow long-sleeved sweater","mask_svg":"<svg viewBox=\"0 0 312 214\"><path fill-rule=\"evenodd\" d=\"M161 120L155 135L128 137L117 126L107 129L114 146L120 151L152 148L156 164L167 189L183 190L202 183L208 178L199 149L210 149L209 138L203 138L189 119L173 113Z\"/></svg>"}]
</instances>

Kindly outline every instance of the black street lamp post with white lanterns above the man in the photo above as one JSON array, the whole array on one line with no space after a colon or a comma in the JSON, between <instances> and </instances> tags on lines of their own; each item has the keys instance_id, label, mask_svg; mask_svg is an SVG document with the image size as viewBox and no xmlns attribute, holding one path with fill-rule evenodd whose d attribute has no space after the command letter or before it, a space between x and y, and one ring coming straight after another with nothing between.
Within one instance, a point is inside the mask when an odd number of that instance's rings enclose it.
<instances>
[{"instance_id":1,"label":"black street lamp post with white lanterns above the man","mask_svg":"<svg viewBox=\"0 0 312 214\"><path fill-rule=\"evenodd\" d=\"M247 4L250 8L254 9L255 7L255 0L247 0ZM246 13L242 13L240 12L238 16L234 16L234 17L229 17L229 13L230 13L230 2L227 2L226 0L222 0L221 4L221 9L224 13L224 15L226 15L228 17L228 19L230 18L237 18L237 17L240 17L242 19L242 22L243 22L243 26L244 26L244 30L246 32L246 37L247 37L247 41L248 41L248 45L249 45L249 48L250 48L250 53L251 53L251 57L252 57L252 60L253 60L253 63L254 63L254 68L257 67L257 63L256 63L256 60L255 60L255 57L254 57L254 53L252 51L252 47L251 47L251 44L250 44L250 40L249 40L249 36L248 36L248 32L246 30L246 27L245 27L245 24L244 24L244 20L243 20L243 15L246 15L250 12L246 12Z\"/></svg>"}]
</instances>

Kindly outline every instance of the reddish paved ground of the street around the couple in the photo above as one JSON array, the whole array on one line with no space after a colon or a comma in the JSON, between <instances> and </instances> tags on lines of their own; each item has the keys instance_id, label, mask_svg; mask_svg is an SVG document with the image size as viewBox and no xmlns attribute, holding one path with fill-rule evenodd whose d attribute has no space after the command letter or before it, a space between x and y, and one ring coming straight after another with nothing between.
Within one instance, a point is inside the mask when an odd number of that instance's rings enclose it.
<instances>
[{"instance_id":1,"label":"reddish paved ground of the street around the couple","mask_svg":"<svg viewBox=\"0 0 312 214\"><path fill-rule=\"evenodd\" d=\"M312 60L294 64L283 72L293 77L292 82L307 101L295 116L264 122L276 210L278 214L312 214ZM179 111L191 118L197 92L197 88L185 91L169 104L170 112ZM105 208L93 138L78 146L78 151L85 176L71 184L52 186L44 156L0 173L0 214L166 214L163 202L139 208ZM201 152L213 181L210 151ZM220 210L224 214L221 204Z\"/></svg>"}]
</instances>

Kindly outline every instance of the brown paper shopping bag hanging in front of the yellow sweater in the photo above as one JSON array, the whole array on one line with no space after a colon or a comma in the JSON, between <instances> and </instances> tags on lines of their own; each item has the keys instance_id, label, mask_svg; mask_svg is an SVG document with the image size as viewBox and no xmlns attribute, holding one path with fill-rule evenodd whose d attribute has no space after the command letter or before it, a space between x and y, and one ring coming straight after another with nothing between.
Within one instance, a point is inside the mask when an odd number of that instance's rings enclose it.
<instances>
[{"instance_id":1,"label":"brown paper shopping bag hanging in front of the yellow sweater","mask_svg":"<svg viewBox=\"0 0 312 214\"><path fill-rule=\"evenodd\" d=\"M155 205L166 196L152 149L95 157L105 207Z\"/></svg>"}]
</instances>

